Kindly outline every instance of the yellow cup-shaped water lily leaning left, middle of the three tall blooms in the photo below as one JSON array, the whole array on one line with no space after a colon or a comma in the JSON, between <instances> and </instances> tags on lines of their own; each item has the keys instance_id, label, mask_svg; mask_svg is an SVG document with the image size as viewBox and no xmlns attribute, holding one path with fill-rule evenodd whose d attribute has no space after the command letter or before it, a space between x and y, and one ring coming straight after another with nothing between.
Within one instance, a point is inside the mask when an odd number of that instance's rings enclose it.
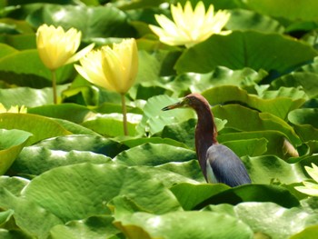
<instances>
[{"instance_id":1,"label":"yellow cup-shaped water lily leaning left, middle of the three tall blooms","mask_svg":"<svg viewBox=\"0 0 318 239\"><path fill-rule=\"evenodd\" d=\"M124 95L134 84L138 71L138 50L134 38L91 51L75 65L87 81Z\"/></svg>"}]
</instances>

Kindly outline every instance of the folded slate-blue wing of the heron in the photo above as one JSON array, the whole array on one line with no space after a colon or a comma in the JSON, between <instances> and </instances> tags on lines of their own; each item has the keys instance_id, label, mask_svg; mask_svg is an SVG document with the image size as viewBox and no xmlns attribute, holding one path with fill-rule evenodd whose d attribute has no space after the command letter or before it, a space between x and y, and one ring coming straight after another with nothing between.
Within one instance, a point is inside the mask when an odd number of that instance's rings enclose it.
<instances>
[{"instance_id":1,"label":"folded slate-blue wing of the heron","mask_svg":"<svg viewBox=\"0 0 318 239\"><path fill-rule=\"evenodd\" d=\"M237 186L241 184L251 184L250 176L241 159L234 152L223 144L213 144L206 153L206 166L211 166L210 174L214 174L214 179L218 183Z\"/></svg>"}]
</instances>

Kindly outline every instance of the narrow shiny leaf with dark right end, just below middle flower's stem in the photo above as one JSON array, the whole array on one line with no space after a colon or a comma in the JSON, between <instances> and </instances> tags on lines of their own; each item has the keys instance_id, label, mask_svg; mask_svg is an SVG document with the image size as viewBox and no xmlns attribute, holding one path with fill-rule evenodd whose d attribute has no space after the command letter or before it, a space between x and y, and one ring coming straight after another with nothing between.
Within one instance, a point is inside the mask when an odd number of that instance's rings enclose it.
<instances>
[{"instance_id":1,"label":"narrow shiny leaf with dark right end, just below middle flower's stem","mask_svg":"<svg viewBox=\"0 0 318 239\"><path fill-rule=\"evenodd\" d=\"M114 157L127 146L120 144L114 140L104 138L98 135L68 135L48 139L36 144L43 146L46 149L62 150L62 151L91 151L92 153L104 154L109 157Z\"/></svg>"}]
</instances>

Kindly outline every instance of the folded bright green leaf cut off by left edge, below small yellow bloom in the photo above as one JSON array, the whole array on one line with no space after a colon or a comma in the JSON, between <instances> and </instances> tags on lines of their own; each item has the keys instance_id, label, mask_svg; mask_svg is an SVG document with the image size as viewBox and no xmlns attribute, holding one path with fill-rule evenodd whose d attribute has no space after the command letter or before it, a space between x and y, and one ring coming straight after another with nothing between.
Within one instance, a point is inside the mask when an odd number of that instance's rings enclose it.
<instances>
[{"instance_id":1,"label":"folded bright green leaf cut off by left edge, below small yellow bloom","mask_svg":"<svg viewBox=\"0 0 318 239\"><path fill-rule=\"evenodd\" d=\"M1 115L0 115L1 117ZM22 130L0 129L0 174L5 174L6 170L15 162L15 158L20 154L25 144L32 134Z\"/></svg>"}]
</instances>

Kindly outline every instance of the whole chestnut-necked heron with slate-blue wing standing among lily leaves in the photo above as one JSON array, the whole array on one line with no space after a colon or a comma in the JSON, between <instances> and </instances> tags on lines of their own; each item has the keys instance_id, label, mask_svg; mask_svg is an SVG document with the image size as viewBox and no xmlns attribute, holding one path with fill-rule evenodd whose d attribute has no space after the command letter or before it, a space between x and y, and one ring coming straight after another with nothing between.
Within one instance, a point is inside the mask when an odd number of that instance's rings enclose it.
<instances>
[{"instance_id":1,"label":"whole chestnut-necked heron with slate-blue wing standing among lily leaves","mask_svg":"<svg viewBox=\"0 0 318 239\"><path fill-rule=\"evenodd\" d=\"M195 126L195 151L207 183L227 184L231 187L251 184L251 178L242 160L227 146L219 144L214 115L203 95L192 93L162 110L190 107L197 115Z\"/></svg>"}]
</instances>

